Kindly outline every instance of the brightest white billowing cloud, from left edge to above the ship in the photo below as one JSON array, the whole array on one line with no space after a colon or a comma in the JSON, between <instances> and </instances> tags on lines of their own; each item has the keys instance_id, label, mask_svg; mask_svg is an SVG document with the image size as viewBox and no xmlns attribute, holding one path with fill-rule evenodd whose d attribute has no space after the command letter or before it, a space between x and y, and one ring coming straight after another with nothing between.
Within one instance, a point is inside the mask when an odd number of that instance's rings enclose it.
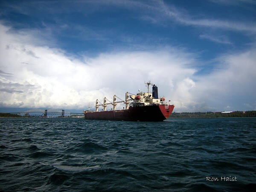
<instances>
[{"instance_id":1,"label":"brightest white billowing cloud, from left edge to above the ship","mask_svg":"<svg viewBox=\"0 0 256 192\"><path fill-rule=\"evenodd\" d=\"M189 67L192 54L180 49L113 52L85 57L85 63L60 49L34 45L34 38L26 38L29 34L20 37L6 26L0 29L0 103L5 107L83 109L104 96L111 100L113 94L123 98L126 91L145 90L148 79L159 85L161 95L172 99L178 84L191 88L188 77L196 71Z\"/></svg>"}]
</instances>

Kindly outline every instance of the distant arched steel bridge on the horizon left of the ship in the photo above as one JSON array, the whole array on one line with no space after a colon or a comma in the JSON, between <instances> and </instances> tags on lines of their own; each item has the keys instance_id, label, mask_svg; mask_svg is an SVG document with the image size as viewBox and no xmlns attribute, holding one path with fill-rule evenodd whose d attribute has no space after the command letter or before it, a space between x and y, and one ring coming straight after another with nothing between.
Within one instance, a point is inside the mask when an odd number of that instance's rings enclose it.
<instances>
[{"instance_id":1,"label":"distant arched steel bridge on the horizon left of the ship","mask_svg":"<svg viewBox=\"0 0 256 192\"><path fill-rule=\"evenodd\" d=\"M84 113L72 113L72 112L65 112L65 110L60 109L30 109L24 112L17 112L11 114L19 114L24 116L30 116L31 114L41 114L39 116L47 117L48 115L58 115L58 116L71 116L71 115L83 115Z\"/></svg>"}]
</instances>

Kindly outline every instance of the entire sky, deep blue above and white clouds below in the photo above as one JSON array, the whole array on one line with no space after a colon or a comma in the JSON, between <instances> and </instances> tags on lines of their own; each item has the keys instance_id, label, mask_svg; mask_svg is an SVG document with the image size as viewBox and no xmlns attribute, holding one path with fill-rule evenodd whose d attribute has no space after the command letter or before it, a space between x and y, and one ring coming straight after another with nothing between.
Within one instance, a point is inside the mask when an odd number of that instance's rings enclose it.
<instances>
[{"instance_id":1,"label":"entire sky, deep blue above and white clouds below","mask_svg":"<svg viewBox=\"0 0 256 192\"><path fill-rule=\"evenodd\" d=\"M149 80L175 112L256 110L256 0L1 0L2 112L95 109Z\"/></svg>"}]
</instances>

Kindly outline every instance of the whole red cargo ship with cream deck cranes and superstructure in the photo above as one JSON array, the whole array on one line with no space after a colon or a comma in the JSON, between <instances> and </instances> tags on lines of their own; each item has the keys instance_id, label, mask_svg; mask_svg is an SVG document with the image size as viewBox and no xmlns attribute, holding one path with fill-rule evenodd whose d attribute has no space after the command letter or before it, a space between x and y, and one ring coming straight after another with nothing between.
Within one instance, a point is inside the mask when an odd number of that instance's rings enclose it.
<instances>
[{"instance_id":1,"label":"whole red cargo ship with cream deck cranes and superstructure","mask_svg":"<svg viewBox=\"0 0 256 192\"><path fill-rule=\"evenodd\" d=\"M96 111L84 110L84 119L124 121L163 121L168 119L172 114L174 105L166 103L164 97L158 97L158 90L155 84L151 84L150 81L145 84L147 84L148 93L140 92L140 90L137 94L126 92L125 101L116 95L113 96L113 102L110 102L105 97L103 104L101 104L97 99ZM150 85L152 85L152 93L149 92ZM122 101L117 101L116 97ZM116 110L116 105L120 102L125 103L125 109ZM107 105L113 105L113 110L107 111ZM103 106L102 111L99 111L99 106Z\"/></svg>"}]
</instances>

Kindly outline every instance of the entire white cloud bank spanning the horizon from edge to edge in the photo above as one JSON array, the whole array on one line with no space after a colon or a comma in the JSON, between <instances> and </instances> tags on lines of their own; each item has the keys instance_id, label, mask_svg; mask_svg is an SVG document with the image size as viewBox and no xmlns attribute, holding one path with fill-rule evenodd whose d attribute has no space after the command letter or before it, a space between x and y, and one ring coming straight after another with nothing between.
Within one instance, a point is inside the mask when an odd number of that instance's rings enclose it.
<instances>
[{"instance_id":1,"label":"entire white cloud bank spanning the horizon from edge to edge","mask_svg":"<svg viewBox=\"0 0 256 192\"><path fill-rule=\"evenodd\" d=\"M104 96L112 100L113 94L124 98L126 91L146 91L148 80L177 112L256 107L255 49L223 55L215 71L198 76L198 55L186 49L115 51L76 59L61 49L39 46L43 40L29 31L13 32L0 24L0 36L0 107L82 110Z\"/></svg>"}]
</instances>

